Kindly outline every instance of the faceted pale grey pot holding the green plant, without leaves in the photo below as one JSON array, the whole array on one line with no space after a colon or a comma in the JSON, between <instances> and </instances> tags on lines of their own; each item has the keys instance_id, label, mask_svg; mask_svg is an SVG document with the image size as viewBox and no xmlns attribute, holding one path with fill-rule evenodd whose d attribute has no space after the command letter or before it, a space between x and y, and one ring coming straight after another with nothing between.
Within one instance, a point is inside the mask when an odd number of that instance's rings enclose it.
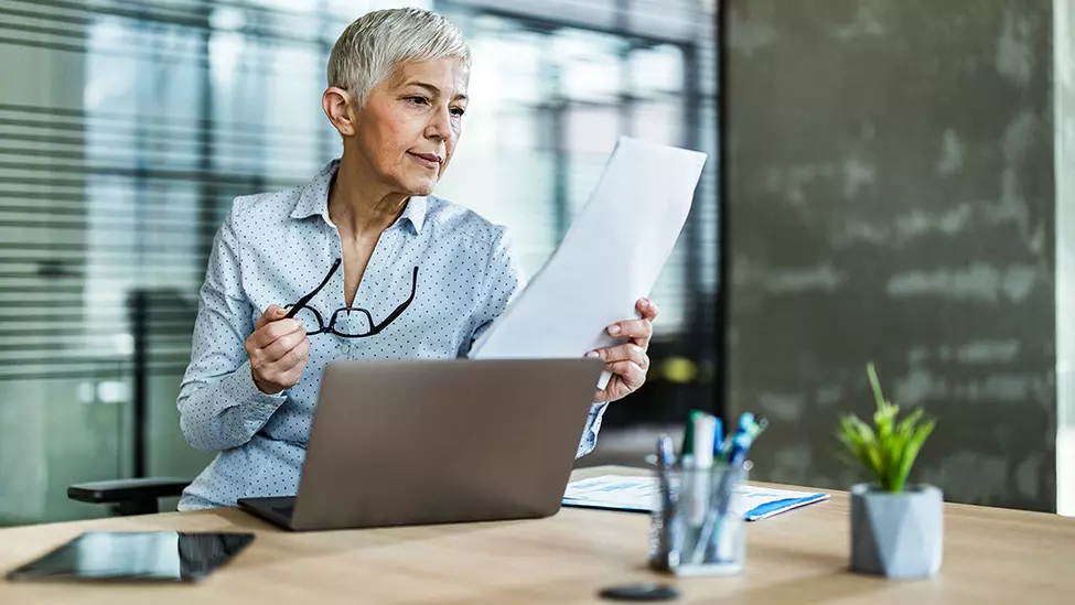
<instances>
[{"instance_id":1,"label":"faceted pale grey pot holding the green plant, without leaves","mask_svg":"<svg viewBox=\"0 0 1075 605\"><path fill-rule=\"evenodd\" d=\"M932 485L904 491L851 487L851 571L893 579L929 577L940 570L944 497Z\"/></svg>"}]
</instances>

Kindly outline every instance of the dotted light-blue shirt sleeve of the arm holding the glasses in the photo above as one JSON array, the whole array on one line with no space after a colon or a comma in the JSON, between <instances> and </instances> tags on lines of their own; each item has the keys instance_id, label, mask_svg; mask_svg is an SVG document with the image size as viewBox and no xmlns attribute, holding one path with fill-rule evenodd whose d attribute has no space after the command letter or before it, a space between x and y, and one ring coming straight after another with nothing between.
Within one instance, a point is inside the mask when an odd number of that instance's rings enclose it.
<instances>
[{"instance_id":1,"label":"dotted light-blue shirt sleeve of the arm holding the glasses","mask_svg":"<svg viewBox=\"0 0 1075 605\"><path fill-rule=\"evenodd\" d=\"M191 363L180 385L180 429L198 450L238 447L265 426L287 400L254 383L244 343L254 333L254 309L240 279L236 209L213 239L205 282L198 294Z\"/></svg>"}]
</instances>

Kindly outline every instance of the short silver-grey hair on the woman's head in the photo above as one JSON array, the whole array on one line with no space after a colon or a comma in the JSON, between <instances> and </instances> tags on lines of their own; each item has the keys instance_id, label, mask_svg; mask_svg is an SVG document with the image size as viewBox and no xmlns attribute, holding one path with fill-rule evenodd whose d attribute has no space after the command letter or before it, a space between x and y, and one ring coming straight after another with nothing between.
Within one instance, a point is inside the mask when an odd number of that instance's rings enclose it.
<instances>
[{"instance_id":1,"label":"short silver-grey hair on the woman's head","mask_svg":"<svg viewBox=\"0 0 1075 605\"><path fill-rule=\"evenodd\" d=\"M329 55L329 86L362 104L400 63L459 58L469 67L471 52L463 32L443 17L422 9L368 12L347 26Z\"/></svg>"}]
</instances>

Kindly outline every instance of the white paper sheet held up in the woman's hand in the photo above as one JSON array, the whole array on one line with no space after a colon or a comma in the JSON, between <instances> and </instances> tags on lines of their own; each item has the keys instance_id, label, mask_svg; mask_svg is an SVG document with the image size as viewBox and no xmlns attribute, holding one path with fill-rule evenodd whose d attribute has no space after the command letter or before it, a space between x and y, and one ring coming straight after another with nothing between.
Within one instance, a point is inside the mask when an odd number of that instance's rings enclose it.
<instances>
[{"instance_id":1,"label":"white paper sheet held up in the woman's hand","mask_svg":"<svg viewBox=\"0 0 1075 605\"><path fill-rule=\"evenodd\" d=\"M638 316L635 302L649 295L679 238L706 159L620 138L563 241L470 358L581 357L621 342L604 328Z\"/></svg>"}]
</instances>

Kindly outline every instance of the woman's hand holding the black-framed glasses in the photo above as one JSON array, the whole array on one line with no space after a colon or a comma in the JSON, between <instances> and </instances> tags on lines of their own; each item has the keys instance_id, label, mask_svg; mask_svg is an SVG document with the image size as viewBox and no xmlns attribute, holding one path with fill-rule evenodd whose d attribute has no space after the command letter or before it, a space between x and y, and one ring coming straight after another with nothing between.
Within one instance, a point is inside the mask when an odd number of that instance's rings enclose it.
<instances>
[{"instance_id":1,"label":"woman's hand holding the black-framed glasses","mask_svg":"<svg viewBox=\"0 0 1075 605\"><path fill-rule=\"evenodd\" d=\"M266 395L298 385L310 359L305 329L300 322L283 318L287 314L276 304L266 309L245 343L254 383Z\"/></svg>"}]
</instances>

